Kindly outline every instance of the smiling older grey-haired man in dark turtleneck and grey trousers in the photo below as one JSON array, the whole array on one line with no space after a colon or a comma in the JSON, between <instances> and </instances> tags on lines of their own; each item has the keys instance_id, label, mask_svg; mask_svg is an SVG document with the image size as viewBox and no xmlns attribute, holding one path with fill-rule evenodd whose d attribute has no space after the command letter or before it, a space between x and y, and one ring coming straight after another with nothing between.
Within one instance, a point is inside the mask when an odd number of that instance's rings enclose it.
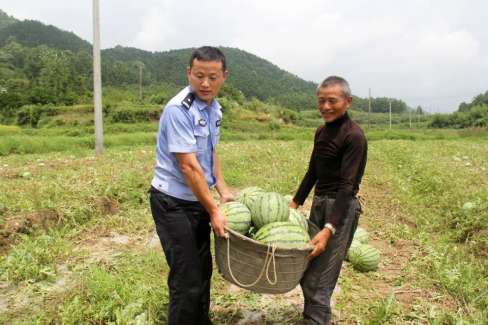
<instances>
[{"instance_id":1,"label":"smiling older grey-haired man in dark turtleneck and grey trousers","mask_svg":"<svg viewBox=\"0 0 488 325\"><path fill-rule=\"evenodd\" d=\"M330 298L358 226L360 205L355 195L366 166L367 142L361 127L347 115L353 98L345 79L329 76L319 84L317 96L325 124L315 131L308 170L289 206L302 205L315 185L309 218L314 259L300 285L304 323L328 325Z\"/></svg>"}]
</instances>

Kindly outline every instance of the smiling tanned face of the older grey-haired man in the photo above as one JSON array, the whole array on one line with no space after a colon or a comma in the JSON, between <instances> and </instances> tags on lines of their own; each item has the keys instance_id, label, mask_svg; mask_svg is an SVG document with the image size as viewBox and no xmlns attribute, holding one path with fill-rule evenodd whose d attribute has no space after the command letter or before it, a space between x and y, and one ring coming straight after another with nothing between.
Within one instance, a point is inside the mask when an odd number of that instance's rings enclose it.
<instances>
[{"instance_id":1,"label":"smiling tanned face of the older grey-haired man","mask_svg":"<svg viewBox=\"0 0 488 325\"><path fill-rule=\"evenodd\" d=\"M317 108L325 122L332 122L346 114L352 103L352 96L344 98L340 86L321 87L318 92Z\"/></svg>"}]
</instances>

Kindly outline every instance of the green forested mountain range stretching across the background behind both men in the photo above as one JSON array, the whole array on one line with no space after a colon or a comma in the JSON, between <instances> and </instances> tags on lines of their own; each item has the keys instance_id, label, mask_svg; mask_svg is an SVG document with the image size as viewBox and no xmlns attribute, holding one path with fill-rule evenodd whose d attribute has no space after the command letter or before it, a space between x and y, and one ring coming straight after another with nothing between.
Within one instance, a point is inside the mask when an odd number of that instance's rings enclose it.
<instances>
[{"instance_id":1,"label":"green forested mountain range stretching across the background behind both men","mask_svg":"<svg viewBox=\"0 0 488 325\"><path fill-rule=\"evenodd\" d=\"M305 81L275 64L237 48L221 47L227 57L226 91L247 99L302 111L315 109L316 83ZM187 84L186 66L193 48L149 52L116 46L102 50L102 86ZM91 44L72 32L39 21L19 21L0 12L0 86L26 103L76 103L92 91ZM232 90L234 89L234 90ZM14 96L14 97L15 97ZM17 97L16 97L17 98ZM387 112L387 98L373 98L372 112ZM367 111L368 101L355 97L351 109ZM392 100L393 112L406 104Z\"/></svg>"}]
</instances>

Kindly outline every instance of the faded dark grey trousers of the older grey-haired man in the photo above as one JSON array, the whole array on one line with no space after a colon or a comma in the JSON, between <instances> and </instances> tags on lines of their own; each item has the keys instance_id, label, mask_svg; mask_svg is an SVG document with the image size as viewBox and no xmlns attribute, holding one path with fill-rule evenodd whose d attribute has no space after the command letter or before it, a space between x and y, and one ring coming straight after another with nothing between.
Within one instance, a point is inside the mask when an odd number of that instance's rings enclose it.
<instances>
[{"instance_id":1,"label":"faded dark grey trousers of the older grey-haired man","mask_svg":"<svg viewBox=\"0 0 488 325\"><path fill-rule=\"evenodd\" d=\"M314 196L309 218L309 234L313 238L327 223L334 205L335 195ZM351 246L360 214L356 197L349 200L349 210L334 235L330 236L325 250L314 257L300 281L305 298L304 321L311 325L329 325L332 311L330 298L334 292L342 262Z\"/></svg>"}]
</instances>

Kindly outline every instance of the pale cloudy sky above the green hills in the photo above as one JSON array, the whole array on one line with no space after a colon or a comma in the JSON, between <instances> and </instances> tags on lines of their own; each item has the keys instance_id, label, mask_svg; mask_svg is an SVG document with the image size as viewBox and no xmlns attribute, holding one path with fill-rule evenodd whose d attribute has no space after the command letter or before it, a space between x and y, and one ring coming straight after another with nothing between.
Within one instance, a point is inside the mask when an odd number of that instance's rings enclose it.
<instances>
[{"instance_id":1,"label":"pale cloudy sky above the green hills","mask_svg":"<svg viewBox=\"0 0 488 325\"><path fill-rule=\"evenodd\" d=\"M93 1L0 0L93 41ZM235 47L305 80L450 113L488 90L486 0L100 0L102 48ZM182 67L186 69L186 67ZM232 74L232 67L228 67Z\"/></svg>"}]
</instances>

